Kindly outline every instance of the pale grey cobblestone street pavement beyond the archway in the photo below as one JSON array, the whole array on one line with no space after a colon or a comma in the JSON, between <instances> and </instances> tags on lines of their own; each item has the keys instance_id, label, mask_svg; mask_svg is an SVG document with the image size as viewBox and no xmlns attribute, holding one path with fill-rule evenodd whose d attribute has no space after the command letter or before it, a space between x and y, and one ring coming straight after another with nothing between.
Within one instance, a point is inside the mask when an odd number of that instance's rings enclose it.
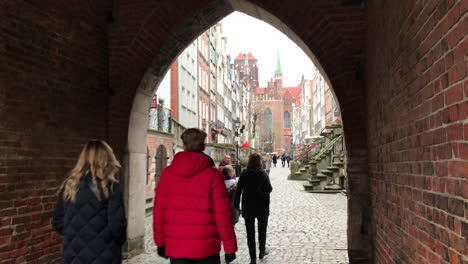
<instances>
[{"instance_id":1,"label":"pale grey cobblestone street pavement beyond the archway","mask_svg":"<svg viewBox=\"0 0 468 264\"><path fill-rule=\"evenodd\" d=\"M346 196L306 193L302 187L303 182L287 180L288 173L287 168L272 168L270 172L273 185L267 231L267 247L270 254L257 263L349 263L346 242ZM152 218L148 217L146 253L124 261L124 264L169 263L169 260L158 257L156 253L151 224ZM236 253L237 259L232 263L248 264L250 258L242 217L236 224L236 235L239 251Z\"/></svg>"}]
</instances>

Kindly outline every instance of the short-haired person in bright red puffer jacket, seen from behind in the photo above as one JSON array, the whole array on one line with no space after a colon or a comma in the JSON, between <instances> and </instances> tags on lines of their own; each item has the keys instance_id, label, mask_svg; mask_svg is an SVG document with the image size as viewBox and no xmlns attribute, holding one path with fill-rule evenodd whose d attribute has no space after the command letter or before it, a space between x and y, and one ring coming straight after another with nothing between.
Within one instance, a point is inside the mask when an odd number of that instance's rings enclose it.
<instances>
[{"instance_id":1,"label":"short-haired person in bright red puffer jacket, seen from behind","mask_svg":"<svg viewBox=\"0 0 468 264\"><path fill-rule=\"evenodd\" d=\"M218 264L221 242L230 263L237 239L221 172L202 151L206 133L190 128L181 136L183 152L161 174L153 209L158 254L171 264Z\"/></svg>"}]
</instances>

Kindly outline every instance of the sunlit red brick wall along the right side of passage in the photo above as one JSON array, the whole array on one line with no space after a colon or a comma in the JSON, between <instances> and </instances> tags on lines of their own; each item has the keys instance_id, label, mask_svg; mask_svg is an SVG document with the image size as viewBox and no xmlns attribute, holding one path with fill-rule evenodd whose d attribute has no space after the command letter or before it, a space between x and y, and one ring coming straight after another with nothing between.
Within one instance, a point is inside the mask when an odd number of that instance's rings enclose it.
<instances>
[{"instance_id":1,"label":"sunlit red brick wall along the right side of passage","mask_svg":"<svg viewBox=\"0 0 468 264\"><path fill-rule=\"evenodd\" d=\"M467 263L468 2L368 2L376 263Z\"/></svg>"}]
</instances>

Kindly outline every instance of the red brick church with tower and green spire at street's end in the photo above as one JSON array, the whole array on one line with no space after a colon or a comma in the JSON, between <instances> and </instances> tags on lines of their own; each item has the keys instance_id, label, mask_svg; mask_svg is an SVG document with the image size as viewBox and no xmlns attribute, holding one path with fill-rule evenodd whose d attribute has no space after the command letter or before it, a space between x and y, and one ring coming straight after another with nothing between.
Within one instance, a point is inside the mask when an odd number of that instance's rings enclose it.
<instances>
[{"instance_id":1,"label":"red brick church with tower and green spire at street's end","mask_svg":"<svg viewBox=\"0 0 468 264\"><path fill-rule=\"evenodd\" d=\"M256 148L279 155L291 151L293 104L299 101L301 84L283 87L279 52L274 77L264 88L259 87L257 59L250 52L239 53L234 65L251 87Z\"/></svg>"}]
</instances>

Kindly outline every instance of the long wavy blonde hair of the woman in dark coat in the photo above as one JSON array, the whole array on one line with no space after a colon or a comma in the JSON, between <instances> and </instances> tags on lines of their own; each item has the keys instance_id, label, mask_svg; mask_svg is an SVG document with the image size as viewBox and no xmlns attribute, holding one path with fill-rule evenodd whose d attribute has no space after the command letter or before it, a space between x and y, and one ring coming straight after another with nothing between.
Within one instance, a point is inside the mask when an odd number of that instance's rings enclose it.
<instances>
[{"instance_id":1,"label":"long wavy blonde hair of the woman in dark coat","mask_svg":"<svg viewBox=\"0 0 468 264\"><path fill-rule=\"evenodd\" d=\"M68 178L63 182L63 199L64 200L76 200L76 194L80 181L88 173L92 176L93 184L96 188L93 188L93 192L101 200L101 192L99 191L98 182L96 177L101 179L101 187L105 198L109 197L109 189L107 185L109 182L117 182L115 174L120 169L120 163L115 158L112 148L102 140L90 140L83 147L80 157L76 162L75 167L70 171Z\"/></svg>"}]
</instances>

